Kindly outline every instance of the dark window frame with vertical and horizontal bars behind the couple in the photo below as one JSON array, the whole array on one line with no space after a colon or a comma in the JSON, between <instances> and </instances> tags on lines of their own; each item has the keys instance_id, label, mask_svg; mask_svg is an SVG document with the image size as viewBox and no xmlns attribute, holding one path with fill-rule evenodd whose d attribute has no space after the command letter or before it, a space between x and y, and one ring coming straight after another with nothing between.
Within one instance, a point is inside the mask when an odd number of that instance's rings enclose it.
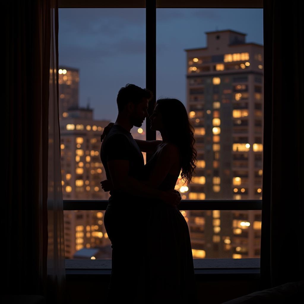
<instances>
[{"instance_id":1,"label":"dark window frame with vertical and horizontal bars behind the couple","mask_svg":"<svg viewBox=\"0 0 304 304\"><path fill-rule=\"evenodd\" d=\"M241 3L241 4L240 4ZM237 0L214 0L209 1L199 0L58 0L59 8L145 8L146 9L146 88L152 92L156 92L156 9L157 8L259 8L263 9L263 0L249 0L240 2ZM149 103L149 113L153 111L155 105L155 96ZM151 111L152 110L152 111ZM147 129L150 125L150 120L146 119L146 140L155 140L156 131ZM264 153L264 151L263 151ZM147 161L151 154L147 153ZM63 200L64 210L105 210L108 205L108 200ZM178 205L179 210L262 210L262 200L182 200ZM229 260L229 259L227 259ZM211 268L212 269L212 268ZM214 268L214 271L207 272L208 274L219 275L216 271L219 268ZM247 271L246 271L247 269ZM256 268L240 268L240 271L234 270L234 274L257 274ZM259 270L259 268L258 268ZM83 272L81 268L77 269L76 273L68 270L67 274L88 274ZM109 270L105 269L100 274L109 275ZM201 274L201 269L195 268L195 274ZM229 269L231 272L231 269ZM232 270L233 271L233 270ZM252 272L253 271L253 272ZM259 272L259 271L258 271ZM96 272L94 272L97 274Z\"/></svg>"}]
</instances>

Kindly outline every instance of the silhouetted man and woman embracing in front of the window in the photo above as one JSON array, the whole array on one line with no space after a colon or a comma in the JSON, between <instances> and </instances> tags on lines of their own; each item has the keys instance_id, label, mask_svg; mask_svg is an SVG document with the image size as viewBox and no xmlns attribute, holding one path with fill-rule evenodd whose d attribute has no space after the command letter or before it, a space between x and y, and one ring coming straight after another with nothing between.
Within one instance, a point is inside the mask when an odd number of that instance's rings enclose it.
<instances>
[{"instance_id":1,"label":"silhouetted man and woman embracing in front of the window","mask_svg":"<svg viewBox=\"0 0 304 304\"><path fill-rule=\"evenodd\" d=\"M101 135L101 184L111 195L104 215L112 243L107 303L196 303L190 235L174 190L180 172L183 181L192 179L193 127L179 100L158 99L149 118L162 140L134 140L130 130L148 117L151 98L136 85L121 88L116 122ZM142 152L153 153L146 165Z\"/></svg>"}]
</instances>

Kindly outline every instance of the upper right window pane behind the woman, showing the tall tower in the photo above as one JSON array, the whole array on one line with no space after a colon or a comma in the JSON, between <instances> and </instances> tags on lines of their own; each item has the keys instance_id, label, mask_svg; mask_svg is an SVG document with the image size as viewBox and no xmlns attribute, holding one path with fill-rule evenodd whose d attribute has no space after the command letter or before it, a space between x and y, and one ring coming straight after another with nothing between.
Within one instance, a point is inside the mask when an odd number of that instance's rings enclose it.
<instances>
[{"instance_id":1,"label":"upper right window pane behind the woman, showing the tall tower","mask_svg":"<svg viewBox=\"0 0 304 304\"><path fill-rule=\"evenodd\" d=\"M180 99L195 129L182 198L262 199L263 9L157 9L160 96Z\"/></svg>"}]
</instances>

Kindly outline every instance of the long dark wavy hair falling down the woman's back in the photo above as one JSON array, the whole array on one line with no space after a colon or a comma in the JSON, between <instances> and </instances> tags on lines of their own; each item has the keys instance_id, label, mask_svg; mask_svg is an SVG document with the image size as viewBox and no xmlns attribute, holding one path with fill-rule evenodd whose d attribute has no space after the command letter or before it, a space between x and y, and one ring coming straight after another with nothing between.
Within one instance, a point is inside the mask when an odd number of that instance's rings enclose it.
<instances>
[{"instance_id":1,"label":"long dark wavy hair falling down the woman's back","mask_svg":"<svg viewBox=\"0 0 304 304\"><path fill-rule=\"evenodd\" d=\"M197 151L194 148L194 128L181 101L175 98L160 98L156 104L162 117L168 141L179 148L181 159L181 178L190 183L196 168Z\"/></svg>"}]
</instances>

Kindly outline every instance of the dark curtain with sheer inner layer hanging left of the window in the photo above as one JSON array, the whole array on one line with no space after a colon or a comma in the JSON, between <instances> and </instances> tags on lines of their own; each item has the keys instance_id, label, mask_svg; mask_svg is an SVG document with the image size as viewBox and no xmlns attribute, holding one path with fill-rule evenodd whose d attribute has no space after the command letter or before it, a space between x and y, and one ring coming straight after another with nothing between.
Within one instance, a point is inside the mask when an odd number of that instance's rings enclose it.
<instances>
[{"instance_id":1,"label":"dark curtain with sheer inner layer hanging left of the window","mask_svg":"<svg viewBox=\"0 0 304 304\"><path fill-rule=\"evenodd\" d=\"M58 0L4 5L4 293L61 303Z\"/></svg>"}]
</instances>

